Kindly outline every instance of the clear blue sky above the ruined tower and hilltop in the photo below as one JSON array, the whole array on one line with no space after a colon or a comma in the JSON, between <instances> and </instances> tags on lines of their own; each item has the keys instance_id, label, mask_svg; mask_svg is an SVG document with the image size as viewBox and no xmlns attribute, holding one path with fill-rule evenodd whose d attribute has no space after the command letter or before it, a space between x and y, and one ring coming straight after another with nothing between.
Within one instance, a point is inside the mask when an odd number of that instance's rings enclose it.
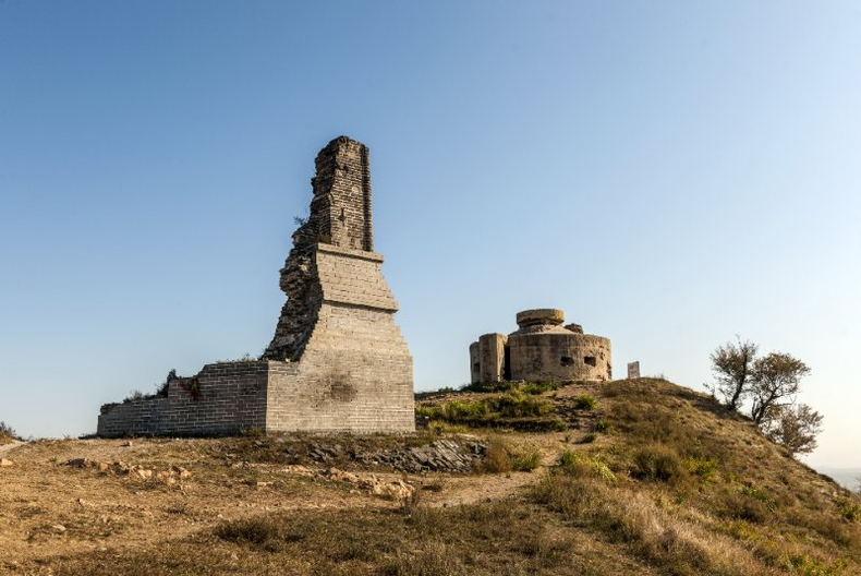
<instances>
[{"instance_id":1,"label":"clear blue sky above the ruined tower and hilltop","mask_svg":"<svg viewBox=\"0 0 861 576\"><path fill-rule=\"evenodd\" d=\"M740 334L861 466L859 38L853 0L2 1L0 420L259 353L348 134L417 389L527 308L699 389Z\"/></svg>"}]
</instances>

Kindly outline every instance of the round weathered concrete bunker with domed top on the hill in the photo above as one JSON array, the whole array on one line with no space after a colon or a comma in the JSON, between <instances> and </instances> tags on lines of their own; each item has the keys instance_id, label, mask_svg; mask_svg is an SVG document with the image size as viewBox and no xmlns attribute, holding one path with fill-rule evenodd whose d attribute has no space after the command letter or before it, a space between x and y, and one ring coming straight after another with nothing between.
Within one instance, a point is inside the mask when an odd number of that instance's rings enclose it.
<instances>
[{"instance_id":1,"label":"round weathered concrete bunker with domed top on the hill","mask_svg":"<svg viewBox=\"0 0 861 576\"><path fill-rule=\"evenodd\" d=\"M473 383L613 379L610 340L583 334L579 324L562 327L561 310L526 310L518 313L517 321L520 328L506 338L501 364L499 358L484 352L489 344L483 347L481 338L477 346L470 346Z\"/></svg>"}]
</instances>

